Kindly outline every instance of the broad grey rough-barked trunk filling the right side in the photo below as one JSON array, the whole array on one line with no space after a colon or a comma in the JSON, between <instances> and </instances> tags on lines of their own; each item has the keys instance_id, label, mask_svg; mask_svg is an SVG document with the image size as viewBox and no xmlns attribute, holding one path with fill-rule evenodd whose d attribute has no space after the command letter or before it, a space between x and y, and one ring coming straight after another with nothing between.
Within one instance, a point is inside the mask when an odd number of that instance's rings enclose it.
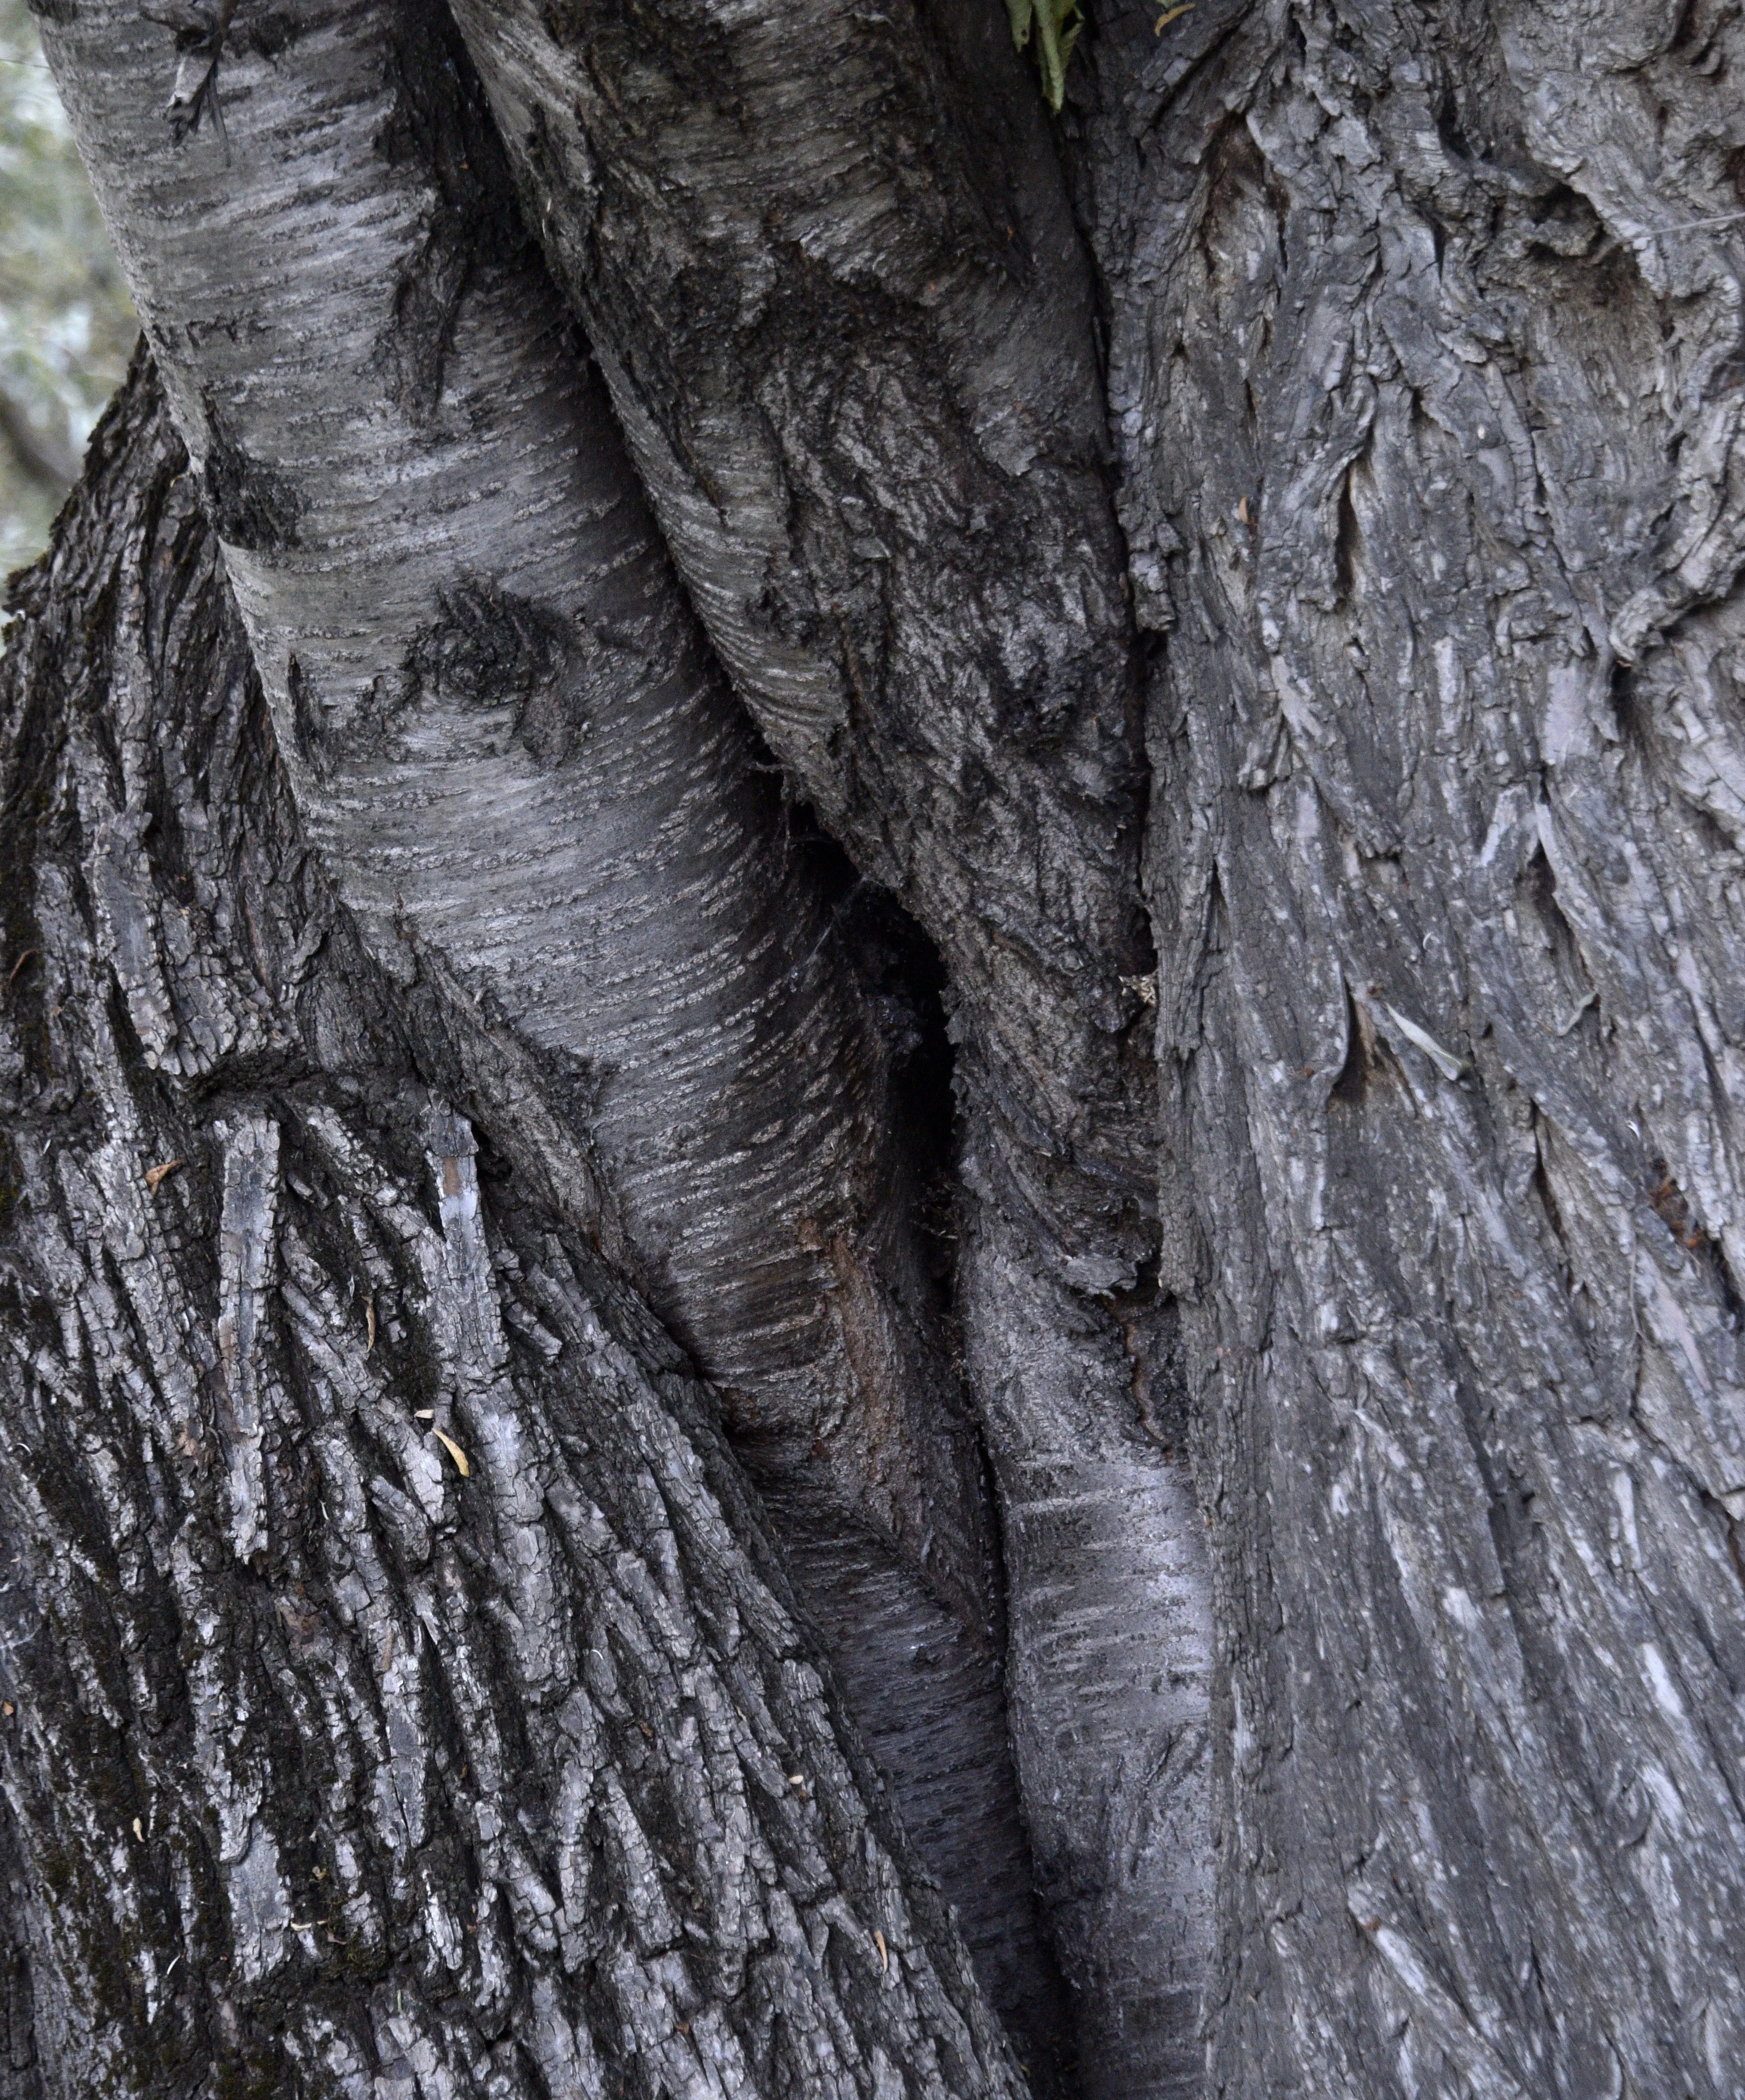
<instances>
[{"instance_id":1,"label":"broad grey rough-barked trunk filling the right side","mask_svg":"<svg viewBox=\"0 0 1745 2100\"><path fill-rule=\"evenodd\" d=\"M1216 2085L1732 2094L1737 10L1151 17L1077 168L1170 628Z\"/></svg>"}]
</instances>

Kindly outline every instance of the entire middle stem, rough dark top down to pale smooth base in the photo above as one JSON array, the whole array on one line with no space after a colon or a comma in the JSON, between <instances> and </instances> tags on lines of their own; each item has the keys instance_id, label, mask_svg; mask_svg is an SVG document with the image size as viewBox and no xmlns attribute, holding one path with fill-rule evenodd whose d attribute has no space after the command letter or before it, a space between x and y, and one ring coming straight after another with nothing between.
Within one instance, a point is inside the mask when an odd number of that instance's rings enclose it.
<instances>
[{"instance_id":1,"label":"entire middle stem, rough dark top down to pale smooth base","mask_svg":"<svg viewBox=\"0 0 1745 2100\"><path fill-rule=\"evenodd\" d=\"M1071 1598L1046 1693L1021 1642L1025 1812L1084 2075L1176 2092L1210 1865L1149 1838L1138 1865L1126 1819L1205 1835L1205 1760L1170 1745L1210 1606L1199 1525L1170 1529L1186 1472L1142 1447L1123 1336L1149 1319L1107 1302L1155 1245L1138 653L1035 88L991 0L456 17L739 693L949 972L968 1363L1008 1577L1035 1583L1014 1619ZM1077 1520L1037 1529L1044 1478Z\"/></svg>"}]
</instances>

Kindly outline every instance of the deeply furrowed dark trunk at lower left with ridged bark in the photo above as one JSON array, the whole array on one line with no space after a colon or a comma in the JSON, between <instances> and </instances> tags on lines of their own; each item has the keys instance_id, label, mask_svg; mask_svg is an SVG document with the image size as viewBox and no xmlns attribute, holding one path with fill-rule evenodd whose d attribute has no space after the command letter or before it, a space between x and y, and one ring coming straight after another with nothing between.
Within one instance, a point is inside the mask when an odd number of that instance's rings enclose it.
<instances>
[{"instance_id":1,"label":"deeply furrowed dark trunk at lower left with ridged bark","mask_svg":"<svg viewBox=\"0 0 1745 2100\"><path fill-rule=\"evenodd\" d=\"M0 674L4 2092L1023 2092L575 1138L307 853L185 464L141 365Z\"/></svg>"}]
</instances>

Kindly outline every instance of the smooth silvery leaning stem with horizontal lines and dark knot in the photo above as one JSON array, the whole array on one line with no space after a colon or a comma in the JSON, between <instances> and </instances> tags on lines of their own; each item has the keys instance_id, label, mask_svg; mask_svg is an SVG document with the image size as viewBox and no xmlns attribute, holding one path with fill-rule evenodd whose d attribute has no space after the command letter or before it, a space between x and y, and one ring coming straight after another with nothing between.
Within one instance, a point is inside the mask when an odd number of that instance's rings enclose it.
<instances>
[{"instance_id":1,"label":"smooth silvery leaning stem with horizontal lines and dark knot","mask_svg":"<svg viewBox=\"0 0 1745 2100\"><path fill-rule=\"evenodd\" d=\"M451 972L590 1132L622 1247L783 1527L859 1567L815 1600L829 1640L905 1686L918 1625L951 1648L888 1768L1042 2048L987 1491L840 899L685 605L447 19L227 23L183 40L181 139L162 27L105 0L46 40L311 844L378 966ZM151 1025L164 1069L199 1069Z\"/></svg>"}]
</instances>

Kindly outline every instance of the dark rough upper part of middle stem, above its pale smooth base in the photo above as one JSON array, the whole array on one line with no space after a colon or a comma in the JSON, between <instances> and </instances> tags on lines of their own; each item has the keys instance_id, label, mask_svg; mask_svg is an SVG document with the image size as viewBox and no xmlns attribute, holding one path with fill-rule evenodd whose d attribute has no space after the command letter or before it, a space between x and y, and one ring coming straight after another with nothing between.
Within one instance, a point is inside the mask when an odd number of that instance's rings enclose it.
<instances>
[{"instance_id":1,"label":"dark rough upper part of middle stem, above its pale smooth base","mask_svg":"<svg viewBox=\"0 0 1745 2100\"><path fill-rule=\"evenodd\" d=\"M997 6L462 4L739 693L939 945L989 1168L1149 1252L1132 622L1084 254Z\"/></svg>"}]
</instances>

